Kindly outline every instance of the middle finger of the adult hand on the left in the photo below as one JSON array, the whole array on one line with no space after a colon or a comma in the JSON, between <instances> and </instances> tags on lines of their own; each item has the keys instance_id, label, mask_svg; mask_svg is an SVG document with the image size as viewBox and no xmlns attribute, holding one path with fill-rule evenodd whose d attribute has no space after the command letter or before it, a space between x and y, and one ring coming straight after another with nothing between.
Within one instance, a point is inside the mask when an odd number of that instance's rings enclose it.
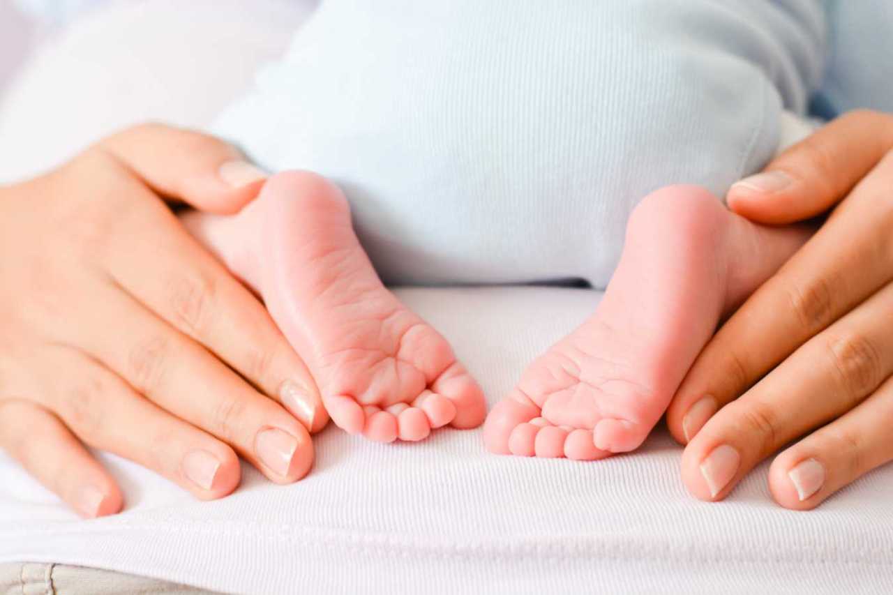
<instances>
[{"instance_id":1,"label":"middle finger of the adult hand on the left","mask_svg":"<svg viewBox=\"0 0 893 595\"><path fill-rule=\"evenodd\" d=\"M165 411L235 448L271 481L290 483L313 464L305 427L229 367L117 289L77 305L67 345L95 356ZM115 332L97 333L100 325Z\"/></svg>"}]
</instances>

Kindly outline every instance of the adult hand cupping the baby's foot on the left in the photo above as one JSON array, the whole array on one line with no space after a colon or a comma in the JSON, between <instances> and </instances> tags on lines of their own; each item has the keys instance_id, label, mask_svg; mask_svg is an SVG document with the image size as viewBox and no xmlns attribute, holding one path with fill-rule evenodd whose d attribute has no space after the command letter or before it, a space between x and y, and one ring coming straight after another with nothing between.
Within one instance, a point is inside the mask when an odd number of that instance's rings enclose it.
<instances>
[{"instance_id":1,"label":"adult hand cupping the baby's foot on the left","mask_svg":"<svg viewBox=\"0 0 893 595\"><path fill-rule=\"evenodd\" d=\"M309 471L310 373L161 198L233 213L262 185L221 141L145 125L0 189L0 448L81 515L122 506L83 444L200 499L236 488L237 454Z\"/></svg>"}]
</instances>

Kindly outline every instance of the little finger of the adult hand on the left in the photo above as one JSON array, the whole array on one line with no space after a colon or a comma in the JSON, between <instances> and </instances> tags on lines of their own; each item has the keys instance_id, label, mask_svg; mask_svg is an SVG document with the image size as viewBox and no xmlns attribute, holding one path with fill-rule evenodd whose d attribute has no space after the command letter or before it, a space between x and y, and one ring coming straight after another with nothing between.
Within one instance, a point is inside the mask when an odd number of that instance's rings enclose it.
<instances>
[{"instance_id":1,"label":"little finger of the adult hand on the left","mask_svg":"<svg viewBox=\"0 0 893 595\"><path fill-rule=\"evenodd\" d=\"M121 490L59 419L25 399L0 401L0 448L85 518L121 510Z\"/></svg>"}]
</instances>

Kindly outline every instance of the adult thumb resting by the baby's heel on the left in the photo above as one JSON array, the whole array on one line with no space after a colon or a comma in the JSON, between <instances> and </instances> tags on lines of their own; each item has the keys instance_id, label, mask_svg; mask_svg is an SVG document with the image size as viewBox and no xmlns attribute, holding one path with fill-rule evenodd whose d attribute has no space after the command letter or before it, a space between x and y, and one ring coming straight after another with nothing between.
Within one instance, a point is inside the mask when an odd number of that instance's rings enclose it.
<instances>
[{"instance_id":1,"label":"adult thumb resting by the baby's heel on the left","mask_svg":"<svg viewBox=\"0 0 893 595\"><path fill-rule=\"evenodd\" d=\"M164 124L139 124L104 138L95 148L159 195L210 213L238 213L267 178L229 143Z\"/></svg>"}]
</instances>

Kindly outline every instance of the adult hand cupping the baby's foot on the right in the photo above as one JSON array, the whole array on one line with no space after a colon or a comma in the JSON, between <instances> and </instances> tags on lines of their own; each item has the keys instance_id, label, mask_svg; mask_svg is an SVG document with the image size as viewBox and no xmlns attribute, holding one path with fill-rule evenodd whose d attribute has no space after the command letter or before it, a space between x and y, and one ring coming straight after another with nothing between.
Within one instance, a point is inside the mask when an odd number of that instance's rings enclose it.
<instances>
[{"instance_id":1,"label":"adult hand cupping the baby's foot on the right","mask_svg":"<svg viewBox=\"0 0 893 595\"><path fill-rule=\"evenodd\" d=\"M789 223L834 207L722 325L673 399L682 478L725 498L772 462L783 507L809 509L893 459L893 116L849 113L730 189L730 208ZM835 206L836 205L836 206Z\"/></svg>"}]
</instances>

